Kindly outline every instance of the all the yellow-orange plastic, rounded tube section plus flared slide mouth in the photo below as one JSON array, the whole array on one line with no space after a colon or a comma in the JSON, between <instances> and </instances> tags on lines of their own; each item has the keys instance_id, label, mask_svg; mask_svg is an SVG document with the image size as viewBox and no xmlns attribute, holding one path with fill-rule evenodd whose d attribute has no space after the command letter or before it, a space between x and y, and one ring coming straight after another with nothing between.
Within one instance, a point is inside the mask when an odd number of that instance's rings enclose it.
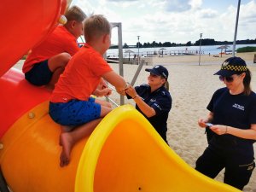
<instances>
[{"instance_id":1,"label":"all the yellow-orange plastic, rounded tube section plus flared slide mouth","mask_svg":"<svg viewBox=\"0 0 256 192\"><path fill-rule=\"evenodd\" d=\"M187 165L130 105L109 113L61 168L60 126L48 105L25 113L1 139L1 168L14 192L240 191Z\"/></svg>"}]
</instances>

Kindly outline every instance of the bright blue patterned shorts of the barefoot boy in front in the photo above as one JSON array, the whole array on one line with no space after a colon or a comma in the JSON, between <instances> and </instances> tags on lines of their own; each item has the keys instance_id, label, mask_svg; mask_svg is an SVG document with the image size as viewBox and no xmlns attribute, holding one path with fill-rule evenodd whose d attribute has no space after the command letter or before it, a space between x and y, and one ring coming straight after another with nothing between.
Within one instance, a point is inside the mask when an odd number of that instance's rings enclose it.
<instances>
[{"instance_id":1,"label":"bright blue patterned shorts of the barefoot boy in front","mask_svg":"<svg viewBox=\"0 0 256 192\"><path fill-rule=\"evenodd\" d=\"M101 117L101 105L90 97L88 101L49 102L49 115L60 125L78 126Z\"/></svg>"}]
</instances>

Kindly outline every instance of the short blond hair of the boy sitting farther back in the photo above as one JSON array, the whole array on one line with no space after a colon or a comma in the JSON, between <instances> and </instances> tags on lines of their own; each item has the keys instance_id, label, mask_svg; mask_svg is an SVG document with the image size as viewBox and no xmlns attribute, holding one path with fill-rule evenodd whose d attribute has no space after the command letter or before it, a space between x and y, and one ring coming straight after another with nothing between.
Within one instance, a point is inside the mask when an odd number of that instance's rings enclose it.
<instances>
[{"instance_id":1,"label":"short blond hair of the boy sitting farther back","mask_svg":"<svg viewBox=\"0 0 256 192\"><path fill-rule=\"evenodd\" d=\"M70 9L67 9L65 16L67 18L67 21L76 20L79 22L83 22L84 19L87 17L84 14L84 11L75 5L73 7L71 7Z\"/></svg>"}]
</instances>

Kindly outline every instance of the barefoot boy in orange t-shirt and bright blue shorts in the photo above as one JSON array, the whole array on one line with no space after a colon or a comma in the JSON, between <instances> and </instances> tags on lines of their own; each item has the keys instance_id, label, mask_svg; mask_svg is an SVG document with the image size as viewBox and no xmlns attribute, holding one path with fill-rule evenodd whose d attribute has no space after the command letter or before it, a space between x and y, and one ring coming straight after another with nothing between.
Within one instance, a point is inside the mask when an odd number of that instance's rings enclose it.
<instances>
[{"instance_id":1,"label":"barefoot boy in orange t-shirt and bright blue shorts","mask_svg":"<svg viewBox=\"0 0 256 192\"><path fill-rule=\"evenodd\" d=\"M111 44L111 25L102 15L84 21L86 44L68 62L50 97L49 115L61 125L61 166L67 166L74 143L87 137L112 108L90 97L102 79L119 93L127 87L125 79L113 72L102 55ZM103 89L102 91L104 91ZM108 94L108 90L105 92Z\"/></svg>"}]
</instances>

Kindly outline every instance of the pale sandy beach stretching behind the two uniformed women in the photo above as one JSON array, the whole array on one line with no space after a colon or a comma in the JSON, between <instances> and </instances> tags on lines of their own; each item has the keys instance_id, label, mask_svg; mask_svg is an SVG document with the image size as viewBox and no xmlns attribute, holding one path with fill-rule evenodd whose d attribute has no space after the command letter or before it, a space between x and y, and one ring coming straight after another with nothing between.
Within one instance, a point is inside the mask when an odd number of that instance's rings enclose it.
<instances>
[{"instance_id":1,"label":"pale sandy beach stretching behind the two uniformed women","mask_svg":"<svg viewBox=\"0 0 256 192\"><path fill-rule=\"evenodd\" d=\"M256 63L253 64L254 53L236 54L247 61L248 68L253 74L252 88L256 90ZM221 63L231 55L223 57L213 57L212 55L201 55L201 65L199 66L198 55L177 55L154 57L152 65L162 64L169 71L170 92L172 95L172 109L168 119L167 140L170 147L190 166L195 167L195 160L207 148L207 138L204 129L197 125L197 119L205 117L208 113L207 104L215 90L223 87L224 84L218 80L213 73L217 72ZM15 67L21 68L22 61ZM113 70L119 73L119 65L111 64ZM137 84L147 83L148 73L143 66L141 73L137 77ZM125 80L131 82L137 65L124 65ZM113 92L113 101L119 103L119 96ZM134 102L125 99L125 103ZM254 150L256 151L254 144ZM223 172L216 178L223 180ZM253 172L250 183L244 191L256 192L256 171Z\"/></svg>"}]
</instances>

